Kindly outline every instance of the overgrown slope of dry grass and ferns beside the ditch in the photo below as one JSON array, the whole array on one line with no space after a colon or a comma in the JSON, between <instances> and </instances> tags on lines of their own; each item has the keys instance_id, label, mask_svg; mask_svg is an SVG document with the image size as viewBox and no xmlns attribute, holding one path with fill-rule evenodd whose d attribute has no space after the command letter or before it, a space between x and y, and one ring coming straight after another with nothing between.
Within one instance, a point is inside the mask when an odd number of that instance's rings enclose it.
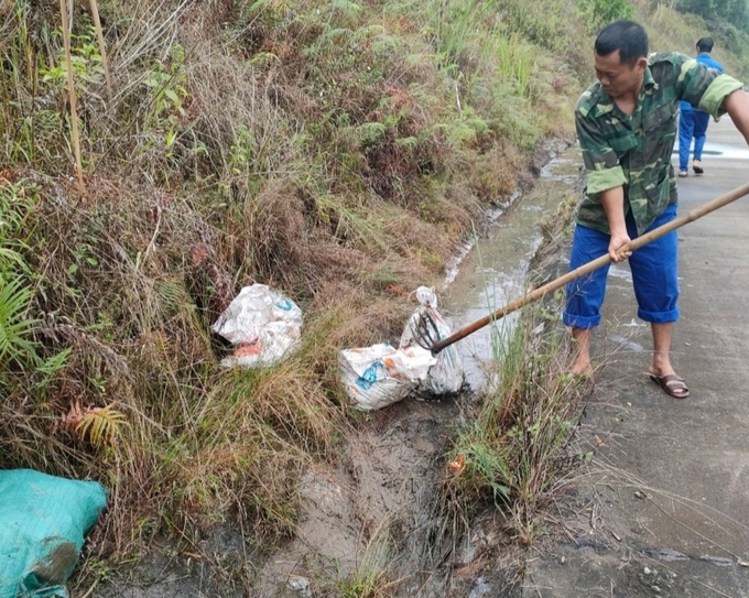
<instances>
[{"instance_id":1,"label":"overgrown slope of dry grass and ferns beside the ditch","mask_svg":"<svg viewBox=\"0 0 749 598\"><path fill-rule=\"evenodd\" d=\"M400 334L389 285L435 282L529 152L572 134L590 29L572 0L131 4L99 6L111 98L74 10L83 194L57 4L0 10L0 281L21 289L0 465L111 488L113 555L226 518L286 533L298 474L360 421L337 350ZM705 33L639 10L656 47ZM251 282L300 303L304 347L227 372L209 325Z\"/></svg>"}]
</instances>

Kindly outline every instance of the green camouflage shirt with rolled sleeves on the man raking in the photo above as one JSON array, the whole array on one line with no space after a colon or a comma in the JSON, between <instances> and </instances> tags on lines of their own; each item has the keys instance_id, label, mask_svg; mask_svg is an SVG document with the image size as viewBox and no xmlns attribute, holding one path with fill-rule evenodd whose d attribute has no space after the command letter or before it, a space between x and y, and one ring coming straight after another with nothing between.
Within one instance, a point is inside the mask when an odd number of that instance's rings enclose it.
<instances>
[{"instance_id":1,"label":"green camouflage shirt with rolled sleeves on the man raking","mask_svg":"<svg viewBox=\"0 0 749 598\"><path fill-rule=\"evenodd\" d=\"M623 186L625 211L632 210L642 233L676 202L671 152L676 139L679 101L714 117L725 113L723 100L741 83L684 54L652 54L631 116L622 112L599 83L577 100L577 138L587 171L587 188L577 221L609 232L598 194Z\"/></svg>"}]
</instances>

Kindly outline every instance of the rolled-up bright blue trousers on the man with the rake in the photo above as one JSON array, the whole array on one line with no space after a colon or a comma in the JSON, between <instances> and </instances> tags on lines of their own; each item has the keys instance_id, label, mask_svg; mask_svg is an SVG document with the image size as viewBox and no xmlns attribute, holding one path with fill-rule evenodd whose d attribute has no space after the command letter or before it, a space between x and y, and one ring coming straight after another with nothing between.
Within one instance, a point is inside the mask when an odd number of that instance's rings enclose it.
<instances>
[{"instance_id":1,"label":"rolled-up bright blue trousers on the man with the rake","mask_svg":"<svg viewBox=\"0 0 749 598\"><path fill-rule=\"evenodd\" d=\"M648 228L652 230L676 218L676 204L672 204ZM631 211L627 215L627 232L637 238L637 227ZM608 253L609 235L577 225L572 244L569 270ZM638 317L644 322L665 324L679 319L677 236L667 235L632 252L629 264L632 270L634 296L639 306ZM567 304L563 314L566 326L591 328L600 324L600 306L606 294L609 265L586 274L567 284Z\"/></svg>"}]
</instances>

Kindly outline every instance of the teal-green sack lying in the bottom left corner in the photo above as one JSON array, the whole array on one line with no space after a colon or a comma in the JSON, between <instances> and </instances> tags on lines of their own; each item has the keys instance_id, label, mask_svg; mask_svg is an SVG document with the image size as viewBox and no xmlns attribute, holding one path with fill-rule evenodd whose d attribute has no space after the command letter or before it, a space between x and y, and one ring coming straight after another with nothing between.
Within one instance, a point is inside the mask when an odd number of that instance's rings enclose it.
<instances>
[{"instance_id":1,"label":"teal-green sack lying in the bottom left corner","mask_svg":"<svg viewBox=\"0 0 749 598\"><path fill-rule=\"evenodd\" d=\"M32 469L0 470L0 598L67 598L104 487Z\"/></svg>"}]
</instances>

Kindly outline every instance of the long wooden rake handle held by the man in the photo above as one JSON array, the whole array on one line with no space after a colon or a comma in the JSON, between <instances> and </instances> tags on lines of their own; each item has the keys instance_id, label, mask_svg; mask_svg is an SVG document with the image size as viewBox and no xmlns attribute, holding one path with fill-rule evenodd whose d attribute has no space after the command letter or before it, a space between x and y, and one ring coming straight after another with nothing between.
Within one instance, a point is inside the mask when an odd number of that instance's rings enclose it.
<instances>
[{"instance_id":1,"label":"long wooden rake handle held by the man","mask_svg":"<svg viewBox=\"0 0 749 598\"><path fill-rule=\"evenodd\" d=\"M684 216L680 216L679 218L675 218L671 220L670 222L666 222L663 226L660 226L658 228L654 228L650 232L645 232L644 235L641 235L637 239L630 241L627 243L622 250L623 251L634 251L636 249L639 249L655 239L659 239L660 237L663 237L664 235L667 235L669 232L676 230L677 228L683 227L684 225L688 222L693 222L694 220L697 220L698 218L702 218L706 214L709 214L710 211L715 211L718 208L721 208L732 202L736 202L737 199L743 197L745 195L749 194L749 183L746 183L741 185L740 187L735 188L731 192L726 193L725 195L721 195L719 197L716 197L715 199L712 199L702 206L698 206L694 208L692 211L685 214ZM523 305L528 305L529 303L533 303L534 301L540 300L544 295L556 291L557 289L561 289L568 282L572 282L574 280L577 280L585 274L589 274L594 270L597 270L598 268L606 265L611 261L611 258L607 253L606 255L601 255L600 258L596 258L591 262L588 262L586 264L580 265L579 268L576 268L575 270L572 270L571 272L567 272L563 276L560 276L558 279L554 279L553 281L544 284L543 286L539 286L538 289L534 289L530 293L525 294L524 296L514 300L503 307L500 307L492 314L489 314L486 317L482 317L481 319L477 319L473 324L468 324L460 328L459 330L453 333L451 336L447 338L444 338L437 343L435 343L432 346L432 355L437 355L439 351L442 351L445 347L449 347L453 345L453 343L457 343L462 338L467 337L468 335L475 333L479 328L484 328L486 325L503 318L506 315L511 314L512 312L517 312L520 309Z\"/></svg>"}]
</instances>

